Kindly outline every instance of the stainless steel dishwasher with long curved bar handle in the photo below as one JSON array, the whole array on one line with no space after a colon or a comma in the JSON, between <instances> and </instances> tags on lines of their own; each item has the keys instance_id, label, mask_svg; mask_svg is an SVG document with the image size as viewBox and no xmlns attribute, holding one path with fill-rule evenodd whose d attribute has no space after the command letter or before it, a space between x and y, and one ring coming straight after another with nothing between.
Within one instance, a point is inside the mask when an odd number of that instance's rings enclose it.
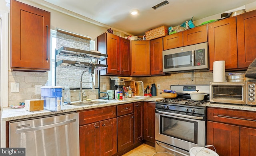
<instances>
[{"instance_id":1,"label":"stainless steel dishwasher with long curved bar handle","mask_svg":"<svg viewBox=\"0 0 256 156\"><path fill-rule=\"evenodd\" d=\"M9 147L26 156L79 156L78 113L64 113L9 123Z\"/></svg>"}]
</instances>

